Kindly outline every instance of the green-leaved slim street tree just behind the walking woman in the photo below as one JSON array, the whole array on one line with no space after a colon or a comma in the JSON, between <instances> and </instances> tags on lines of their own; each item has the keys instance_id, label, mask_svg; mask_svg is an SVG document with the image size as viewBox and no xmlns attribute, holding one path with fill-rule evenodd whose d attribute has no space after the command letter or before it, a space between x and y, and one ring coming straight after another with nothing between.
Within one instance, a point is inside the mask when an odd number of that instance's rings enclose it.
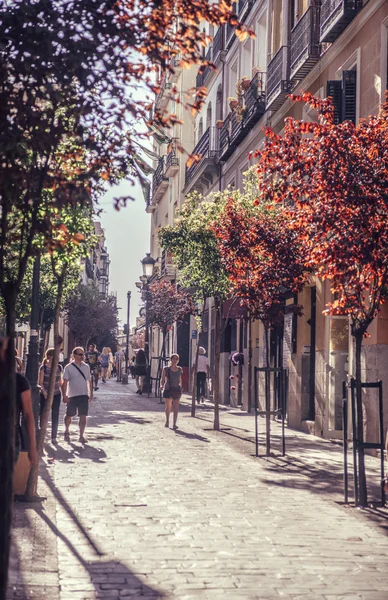
<instances>
[{"instance_id":1,"label":"green-leaved slim street tree just behind the walking woman","mask_svg":"<svg viewBox=\"0 0 388 600\"><path fill-rule=\"evenodd\" d=\"M193 288L193 298L202 306L206 298L214 299L214 429L219 430L219 370L222 302L230 294L230 283L221 261L217 238L212 223L218 218L224 197L215 194L204 199L198 193L189 196L179 211L174 225L160 230L162 248L169 250L178 268L183 288ZM196 364L198 360L198 348ZM193 373L192 415L195 415L195 372Z\"/></svg>"}]
</instances>

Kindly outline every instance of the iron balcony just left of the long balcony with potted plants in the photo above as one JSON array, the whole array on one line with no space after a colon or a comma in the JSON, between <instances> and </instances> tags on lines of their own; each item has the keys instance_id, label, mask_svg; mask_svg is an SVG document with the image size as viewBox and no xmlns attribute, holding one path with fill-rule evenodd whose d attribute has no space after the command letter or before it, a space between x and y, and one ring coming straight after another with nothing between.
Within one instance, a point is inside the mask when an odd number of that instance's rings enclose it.
<instances>
[{"instance_id":1,"label":"iron balcony just left of the long balcony with potted plants","mask_svg":"<svg viewBox=\"0 0 388 600\"><path fill-rule=\"evenodd\" d=\"M206 191L213 184L214 177L218 176L218 148L214 127L205 131L192 154L199 158L192 165L186 165L184 194L193 190Z\"/></svg>"}]
</instances>

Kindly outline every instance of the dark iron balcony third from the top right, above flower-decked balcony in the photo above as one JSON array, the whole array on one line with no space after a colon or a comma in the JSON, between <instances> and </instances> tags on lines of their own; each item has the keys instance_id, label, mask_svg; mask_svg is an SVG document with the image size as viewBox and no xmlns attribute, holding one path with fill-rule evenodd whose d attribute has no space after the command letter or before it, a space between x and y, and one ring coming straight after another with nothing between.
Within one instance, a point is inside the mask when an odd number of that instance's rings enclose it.
<instances>
[{"instance_id":1,"label":"dark iron balcony third from the top right, above flower-decked balcony","mask_svg":"<svg viewBox=\"0 0 388 600\"><path fill-rule=\"evenodd\" d=\"M267 110L280 108L289 92L289 47L282 46L268 65Z\"/></svg>"}]
</instances>

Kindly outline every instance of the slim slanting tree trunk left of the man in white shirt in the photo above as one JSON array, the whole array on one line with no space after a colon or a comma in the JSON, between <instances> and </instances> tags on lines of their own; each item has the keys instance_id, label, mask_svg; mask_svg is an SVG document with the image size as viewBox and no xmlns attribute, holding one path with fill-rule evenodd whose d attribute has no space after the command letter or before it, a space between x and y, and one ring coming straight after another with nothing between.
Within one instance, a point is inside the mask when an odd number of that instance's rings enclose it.
<instances>
[{"instance_id":1,"label":"slim slanting tree trunk left of the man in white shirt","mask_svg":"<svg viewBox=\"0 0 388 600\"><path fill-rule=\"evenodd\" d=\"M58 289L57 289L57 299L55 303L55 321L54 321L54 356L51 365L51 373L49 379L49 386L47 390L47 398L44 405L44 410L41 416L41 425L38 434L37 440L37 453L39 459L43 456L43 448L45 437L47 433L47 425L49 416L51 413L51 406L54 398L54 387L55 387L55 379L58 368L59 361L59 352L62 346L62 339L59 336L59 317L61 313L61 303L62 303L62 294L63 294L63 282L65 278L65 273L63 273L60 277L58 277ZM39 462L37 465L34 465L30 469L30 474L27 481L27 489L26 489L26 500L31 502L36 499L37 490L38 490L38 477L39 477Z\"/></svg>"}]
</instances>

